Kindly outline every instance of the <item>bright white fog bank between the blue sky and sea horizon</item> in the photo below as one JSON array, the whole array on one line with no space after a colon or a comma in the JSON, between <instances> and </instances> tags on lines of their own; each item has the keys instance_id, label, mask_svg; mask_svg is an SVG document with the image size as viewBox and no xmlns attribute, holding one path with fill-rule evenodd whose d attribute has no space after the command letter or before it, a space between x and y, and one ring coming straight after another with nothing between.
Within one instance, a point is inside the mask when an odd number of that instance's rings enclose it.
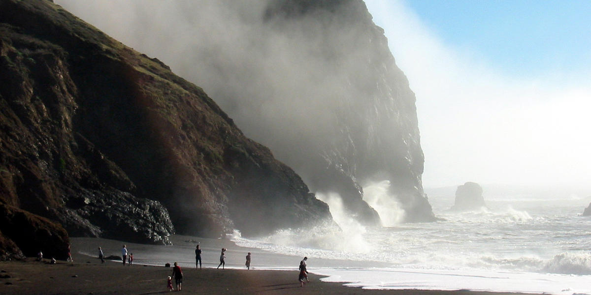
<instances>
[{"instance_id":1,"label":"bright white fog bank between the blue sky and sea horizon","mask_svg":"<svg viewBox=\"0 0 591 295\"><path fill-rule=\"evenodd\" d=\"M446 44L404 2L366 3L417 95L426 187L589 184L589 71L519 76Z\"/></svg>"}]
</instances>

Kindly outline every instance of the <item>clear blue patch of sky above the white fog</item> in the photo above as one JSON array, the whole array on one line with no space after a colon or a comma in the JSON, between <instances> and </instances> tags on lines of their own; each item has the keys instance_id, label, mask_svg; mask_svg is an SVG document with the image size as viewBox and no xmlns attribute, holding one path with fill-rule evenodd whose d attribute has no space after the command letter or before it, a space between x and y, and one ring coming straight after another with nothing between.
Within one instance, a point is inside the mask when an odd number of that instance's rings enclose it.
<instances>
[{"instance_id":1,"label":"clear blue patch of sky above the white fog","mask_svg":"<svg viewBox=\"0 0 591 295\"><path fill-rule=\"evenodd\" d=\"M591 1L405 1L446 44L467 47L507 74L591 65Z\"/></svg>"}]
</instances>

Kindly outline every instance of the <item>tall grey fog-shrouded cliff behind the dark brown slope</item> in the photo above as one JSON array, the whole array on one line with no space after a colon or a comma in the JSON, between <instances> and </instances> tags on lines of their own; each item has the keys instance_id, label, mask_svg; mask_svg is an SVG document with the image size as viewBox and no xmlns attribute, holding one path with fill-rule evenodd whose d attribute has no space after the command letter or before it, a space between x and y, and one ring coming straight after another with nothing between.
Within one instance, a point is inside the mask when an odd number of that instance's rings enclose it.
<instances>
[{"instance_id":1,"label":"tall grey fog-shrouded cliff behind the dark brown slope","mask_svg":"<svg viewBox=\"0 0 591 295\"><path fill-rule=\"evenodd\" d=\"M414 93L362 1L56 3L203 87L246 136L311 191L349 200L353 215L375 222L361 186L387 181L384 198L402 202L405 220L433 217Z\"/></svg>"}]
</instances>

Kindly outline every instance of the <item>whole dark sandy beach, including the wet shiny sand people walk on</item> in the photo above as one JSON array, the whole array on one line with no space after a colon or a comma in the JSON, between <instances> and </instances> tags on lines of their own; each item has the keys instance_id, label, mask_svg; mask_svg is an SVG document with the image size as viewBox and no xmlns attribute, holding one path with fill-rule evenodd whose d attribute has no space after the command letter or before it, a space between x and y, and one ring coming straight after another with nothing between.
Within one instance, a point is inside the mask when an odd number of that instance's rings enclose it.
<instances>
[{"instance_id":1,"label":"whole dark sandy beach, including the wet shiny sand people walk on","mask_svg":"<svg viewBox=\"0 0 591 295\"><path fill-rule=\"evenodd\" d=\"M57 264L49 264L49 259L43 262L27 258L26 261L0 262L0 295L4 294L160 294L169 293L167 290L167 277L171 275L172 268L163 266L146 265L142 259L135 259L133 266L123 266L121 262L105 261L100 263L94 253L95 245L102 245L105 255L119 254L119 247L127 244L135 257L152 255L158 257L159 251L186 251L187 257L193 260L193 239L197 239L205 249L204 254L212 257L217 254L217 249L222 245L230 245L228 256L237 257L245 251L256 249L238 247L228 240L204 239L175 235L171 237L176 241L173 246L154 246L125 243L115 240L100 238L73 238L72 256L73 262L57 261ZM298 257L256 252L254 264L261 260L285 260L298 263ZM170 255L170 254L169 254ZM217 256L216 256L217 257ZM235 258L235 260L242 258ZM193 260L194 261L194 260ZM152 261L153 262L153 261ZM170 261L172 264L174 261ZM327 283L321 281L321 276L310 273L311 282L300 287L298 282L298 270L246 270L243 265L226 263L226 269L216 269L214 261L204 261L203 268L197 270L194 264L184 261L183 294L437 294L437 295L480 295L503 294L484 293L475 291L424 291L424 290L364 290L343 286L343 283ZM310 264L322 264L326 261L311 260ZM191 265L191 267L189 267ZM257 266L258 267L258 266ZM242 269L241 269L242 268ZM254 267L256 268L256 267ZM310 270L310 268L309 268ZM173 280L174 283L174 280ZM176 291L175 291L176 292Z\"/></svg>"}]
</instances>

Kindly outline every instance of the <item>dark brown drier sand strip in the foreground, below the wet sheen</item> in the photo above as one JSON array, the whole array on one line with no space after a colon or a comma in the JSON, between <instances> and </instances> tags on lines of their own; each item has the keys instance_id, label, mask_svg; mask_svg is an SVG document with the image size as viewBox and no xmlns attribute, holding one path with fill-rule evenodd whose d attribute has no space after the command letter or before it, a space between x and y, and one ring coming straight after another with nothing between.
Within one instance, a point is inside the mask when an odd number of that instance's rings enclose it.
<instances>
[{"instance_id":1,"label":"dark brown drier sand strip in the foreground, below the wet sheen","mask_svg":"<svg viewBox=\"0 0 591 295\"><path fill-rule=\"evenodd\" d=\"M122 266L96 258L75 256L74 262L47 264L34 261L0 263L0 294L166 294L168 267ZM182 294L437 294L482 295L472 291L363 290L326 283L310 274L310 283L300 287L298 271L183 269ZM174 284L174 280L173 280ZM176 291L174 291L176 294ZM502 294L502 293L492 293Z\"/></svg>"}]
</instances>

